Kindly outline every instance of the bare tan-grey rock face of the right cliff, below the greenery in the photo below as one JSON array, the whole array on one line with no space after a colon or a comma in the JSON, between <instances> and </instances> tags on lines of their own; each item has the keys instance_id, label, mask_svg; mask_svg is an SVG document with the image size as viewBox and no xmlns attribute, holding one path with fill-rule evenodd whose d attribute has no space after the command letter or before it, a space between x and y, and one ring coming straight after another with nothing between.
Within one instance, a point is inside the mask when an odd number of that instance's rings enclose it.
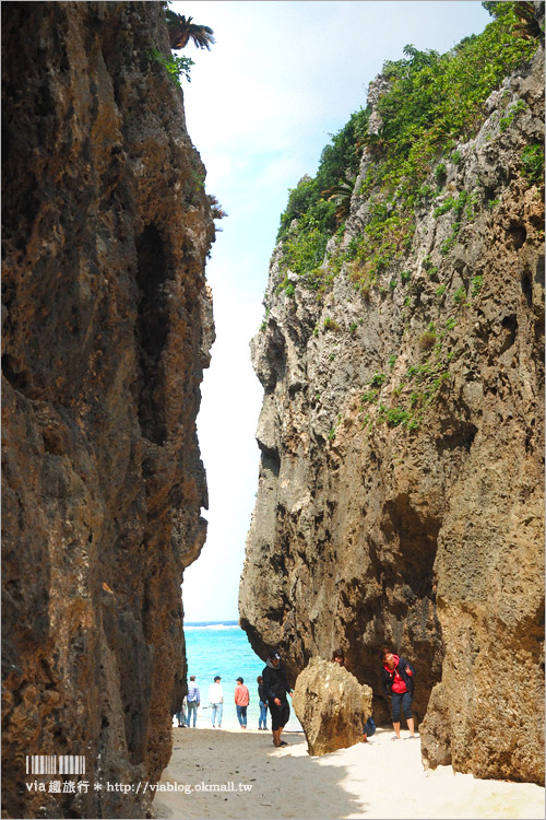
<instances>
[{"instance_id":1,"label":"bare tan-grey rock face of the right cliff, below the greenery","mask_svg":"<svg viewBox=\"0 0 546 820\"><path fill-rule=\"evenodd\" d=\"M321 300L275 250L251 343L261 468L239 598L254 651L280 646L292 681L341 646L387 721L388 642L416 667L429 765L536 782L544 188L521 155L543 139L543 84L539 51L447 162L443 196L471 203L456 239L454 213L423 204L410 251L378 288L357 293L344 262ZM520 99L521 117L500 126ZM365 152L355 191L370 162ZM353 196L342 248L367 212Z\"/></svg>"}]
</instances>

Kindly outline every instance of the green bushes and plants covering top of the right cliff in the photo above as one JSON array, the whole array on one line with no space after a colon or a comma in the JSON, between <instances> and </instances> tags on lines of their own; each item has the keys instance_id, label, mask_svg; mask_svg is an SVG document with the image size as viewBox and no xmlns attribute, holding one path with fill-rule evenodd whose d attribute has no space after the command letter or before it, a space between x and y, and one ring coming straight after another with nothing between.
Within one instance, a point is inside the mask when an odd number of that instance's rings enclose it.
<instances>
[{"instance_id":1,"label":"green bushes and plants covering top of the right cliff","mask_svg":"<svg viewBox=\"0 0 546 820\"><path fill-rule=\"evenodd\" d=\"M471 139L484 121L489 94L535 52L543 33L532 3L486 2L484 7L495 19L480 35L465 37L444 55L406 46L402 60L387 62L382 75L390 87L377 105L382 119L379 132L368 130L370 110L360 108L322 151L314 178L305 176L289 191L277 235L282 265L307 286L328 285L320 266L329 239L343 234L340 200L357 177L364 148L372 161L355 194L368 200L369 215L361 234L331 259L329 271L331 280L343 261L352 261L356 286L363 290L407 253L415 208L438 194L427 184L430 175L441 187L446 162L460 160L458 142ZM506 112L507 127L524 107ZM527 178L538 180L544 152L541 147L530 150L522 168ZM330 199L329 189L339 196ZM282 286L288 288L288 280Z\"/></svg>"}]
</instances>

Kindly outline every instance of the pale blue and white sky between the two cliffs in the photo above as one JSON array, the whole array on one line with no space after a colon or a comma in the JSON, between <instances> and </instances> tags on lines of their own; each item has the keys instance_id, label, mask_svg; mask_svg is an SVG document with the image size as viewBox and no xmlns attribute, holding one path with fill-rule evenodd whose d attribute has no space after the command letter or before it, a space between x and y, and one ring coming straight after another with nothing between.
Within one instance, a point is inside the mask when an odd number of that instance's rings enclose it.
<instances>
[{"instance_id":1,"label":"pale blue and white sky between the two cliffs","mask_svg":"<svg viewBox=\"0 0 546 820\"><path fill-rule=\"evenodd\" d=\"M188 45L188 131L206 166L217 222L206 278L216 341L198 417L209 484L207 539L185 571L185 621L238 619L245 542L258 490L254 433L262 388L249 343L262 321L268 268L289 188L320 154L368 84L405 45L443 52L489 22L477 0L185 0L170 8L214 31Z\"/></svg>"}]
</instances>

